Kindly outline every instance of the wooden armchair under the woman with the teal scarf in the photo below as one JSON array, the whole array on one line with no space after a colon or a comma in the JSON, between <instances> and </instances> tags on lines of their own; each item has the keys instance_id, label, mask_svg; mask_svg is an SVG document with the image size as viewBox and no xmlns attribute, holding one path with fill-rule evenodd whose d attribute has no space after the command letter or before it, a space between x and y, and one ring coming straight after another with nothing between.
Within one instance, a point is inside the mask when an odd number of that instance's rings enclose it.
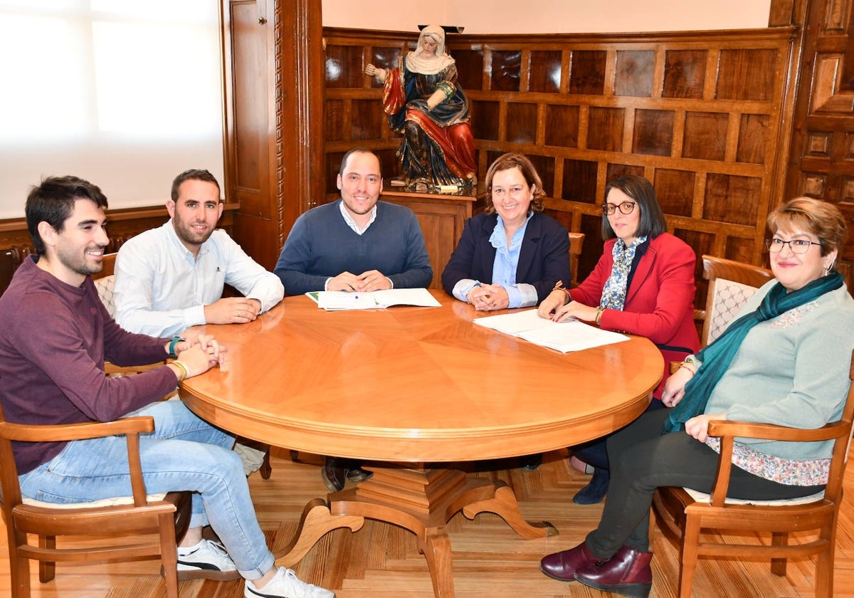
<instances>
[{"instance_id":1,"label":"wooden armchair under the woman with the teal scarf","mask_svg":"<svg viewBox=\"0 0 854 598\"><path fill-rule=\"evenodd\" d=\"M854 380L854 354L849 378ZM738 421L712 421L709 436L721 437L721 456L710 495L682 488L659 488L652 507L664 535L680 546L679 596L690 598L693 572L699 555L729 558L762 557L771 560L771 572L786 574L788 558L816 554L816 598L834 595L836 522L842 501L842 479L851 438L854 384L848 391L842 419L817 430ZM828 485L823 493L792 501L734 501L727 499L735 437L767 438L793 442L834 441ZM725 543L725 538L700 531L718 528L743 532L770 532L771 542ZM789 532L818 531L817 537L788 544ZM720 539L721 542L712 542Z\"/></svg>"}]
</instances>

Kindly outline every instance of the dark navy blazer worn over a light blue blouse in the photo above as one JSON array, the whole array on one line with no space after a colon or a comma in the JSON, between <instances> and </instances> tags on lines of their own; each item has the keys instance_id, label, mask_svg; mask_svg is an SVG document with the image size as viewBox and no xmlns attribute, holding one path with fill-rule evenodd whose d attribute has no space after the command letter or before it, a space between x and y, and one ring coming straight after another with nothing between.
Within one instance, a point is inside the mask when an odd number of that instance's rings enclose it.
<instances>
[{"instance_id":1,"label":"dark navy blazer worn over a light blue blouse","mask_svg":"<svg viewBox=\"0 0 854 598\"><path fill-rule=\"evenodd\" d=\"M495 248L489 237L498 223L498 214L477 214L466 221L463 235L442 272L442 286L449 295L463 278L492 283ZM528 221L516 282L533 284L537 303L545 299L559 280L570 282L570 239L566 229L551 216L535 213Z\"/></svg>"}]
</instances>

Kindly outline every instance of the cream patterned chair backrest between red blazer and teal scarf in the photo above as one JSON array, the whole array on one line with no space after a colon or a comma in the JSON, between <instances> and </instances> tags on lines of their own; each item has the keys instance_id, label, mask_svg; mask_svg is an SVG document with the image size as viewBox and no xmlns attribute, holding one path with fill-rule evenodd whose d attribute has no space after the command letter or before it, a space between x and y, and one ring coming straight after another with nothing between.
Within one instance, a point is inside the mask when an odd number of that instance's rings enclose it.
<instances>
[{"instance_id":1,"label":"cream patterned chair backrest between red blazer and teal scarf","mask_svg":"<svg viewBox=\"0 0 854 598\"><path fill-rule=\"evenodd\" d=\"M774 273L752 264L704 255L703 278L709 281L700 335L705 346L722 335L741 306L760 286L774 278Z\"/></svg>"}]
</instances>

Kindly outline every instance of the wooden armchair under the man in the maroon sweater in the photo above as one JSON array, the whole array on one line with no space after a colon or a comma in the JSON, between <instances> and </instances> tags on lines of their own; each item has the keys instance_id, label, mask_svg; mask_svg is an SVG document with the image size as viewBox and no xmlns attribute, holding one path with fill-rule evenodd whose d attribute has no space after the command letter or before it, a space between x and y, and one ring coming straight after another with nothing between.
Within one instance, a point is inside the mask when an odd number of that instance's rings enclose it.
<instances>
[{"instance_id":1,"label":"wooden armchair under the man in the maroon sweater","mask_svg":"<svg viewBox=\"0 0 854 598\"><path fill-rule=\"evenodd\" d=\"M159 556L167 596L178 598L177 538L190 524L190 492L146 496L139 461L139 434L154 430L151 417L72 425L11 424L0 408L0 484L3 519L9 535L9 571L13 598L30 595L30 560L38 560L38 578L49 582L56 562L88 564L104 560L138 560ZM132 497L97 503L51 505L21 498L12 442L42 443L124 434L130 458ZM27 534L38 537L31 544ZM144 535L144 536L142 536ZM85 548L57 548L56 536L99 536L103 543ZM128 537L132 536L132 537ZM142 536L142 538L141 538Z\"/></svg>"}]
</instances>

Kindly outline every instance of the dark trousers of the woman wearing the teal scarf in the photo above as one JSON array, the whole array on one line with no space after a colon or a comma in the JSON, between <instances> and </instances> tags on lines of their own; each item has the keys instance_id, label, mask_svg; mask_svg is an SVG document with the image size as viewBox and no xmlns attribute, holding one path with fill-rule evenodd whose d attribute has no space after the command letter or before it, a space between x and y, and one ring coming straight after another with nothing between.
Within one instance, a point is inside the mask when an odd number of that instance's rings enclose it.
<instances>
[{"instance_id":1,"label":"dark trousers of the woman wearing the teal scarf","mask_svg":"<svg viewBox=\"0 0 854 598\"><path fill-rule=\"evenodd\" d=\"M602 559L621 547L649 552L652 495L659 486L710 492L718 454L684 431L662 434L670 409L644 413L608 437L611 485L599 527L587 536L588 549ZM728 495L776 500L808 496L823 486L778 484L733 466Z\"/></svg>"}]
</instances>

